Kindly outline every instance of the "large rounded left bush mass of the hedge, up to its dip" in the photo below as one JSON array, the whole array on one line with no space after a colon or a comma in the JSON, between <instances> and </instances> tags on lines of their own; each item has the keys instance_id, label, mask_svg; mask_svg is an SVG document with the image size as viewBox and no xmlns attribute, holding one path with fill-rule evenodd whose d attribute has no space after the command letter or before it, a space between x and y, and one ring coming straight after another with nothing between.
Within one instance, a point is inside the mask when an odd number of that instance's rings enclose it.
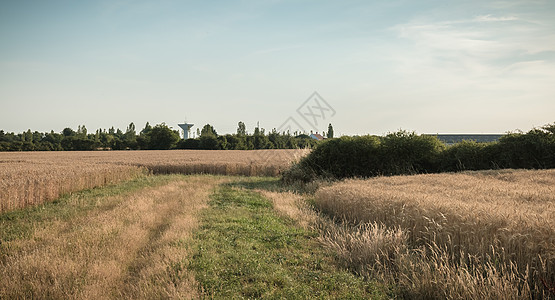
<instances>
[{"instance_id":1,"label":"large rounded left bush mass of the hedge, up to its dip","mask_svg":"<svg viewBox=\"0 0 555 300\"><path fill-rule=\"evenodd\" d=\"M401 131L386 137L341 137L322 142L298 165L284 173L285 181L316 177L347 178L434 172L444 145L433 136Z\"/></svg>"}]
</instances>

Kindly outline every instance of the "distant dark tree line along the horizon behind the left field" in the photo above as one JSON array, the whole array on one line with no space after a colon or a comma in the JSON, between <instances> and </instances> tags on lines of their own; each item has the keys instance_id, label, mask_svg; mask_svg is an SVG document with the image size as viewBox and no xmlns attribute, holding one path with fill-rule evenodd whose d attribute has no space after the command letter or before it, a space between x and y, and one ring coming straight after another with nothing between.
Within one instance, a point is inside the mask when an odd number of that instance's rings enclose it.
<instances>
[{"instance_id":1,"label":"distant dark tree line along the horizon behind the left field","mask_svg":"<svg viewBox=\"0 0 555 300\"><path fill-rule=\"evenodd\" d=\"M333 127L329 124L327 137L333 137ZM206 149L206 150L254 150L254 149L296 149L312 148L318 140L301 132L278 132L272 129L266 133L264 128L256 127L252 134L239 122L235 134L218 135L214 127L206 124L197 129L196 138L183 140L179 131L165 123L151 126L148 122L137 132L135 124L127 126L125 132L114 127L98 129L89 133L85 125L77 130L65 128L60 133L38 131L5 133L0 130L0 151L91 151L91 150L168 150L168 149Z\"/></svg>"}]
</instances>

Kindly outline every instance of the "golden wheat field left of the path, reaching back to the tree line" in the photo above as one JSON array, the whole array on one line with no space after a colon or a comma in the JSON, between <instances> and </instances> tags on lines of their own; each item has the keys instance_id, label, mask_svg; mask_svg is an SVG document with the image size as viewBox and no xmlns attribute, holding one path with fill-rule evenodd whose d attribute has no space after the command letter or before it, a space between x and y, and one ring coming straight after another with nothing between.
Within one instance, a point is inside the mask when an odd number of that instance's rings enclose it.
<instances>
[{"instance_id":1,"label":"golden wheat field left of the path, reaching back to the tree line","mask_svg":"<svg viewBox=\"0 0 555 300\"><path fill-rule=\"evenodd\" d=\"M0 212L145 172L278 176L307 151L0 152Z\"/></svg>"}]
</instances>

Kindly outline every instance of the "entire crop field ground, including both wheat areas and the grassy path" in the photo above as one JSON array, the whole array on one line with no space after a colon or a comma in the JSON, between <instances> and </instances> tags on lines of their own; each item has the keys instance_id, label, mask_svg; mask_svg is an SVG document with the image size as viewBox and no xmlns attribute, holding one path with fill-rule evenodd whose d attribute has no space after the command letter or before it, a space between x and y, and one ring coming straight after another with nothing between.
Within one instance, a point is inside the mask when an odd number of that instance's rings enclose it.
<instances>
[{"instance_id":1,"label":"entire crop field ground, including both wheat areas and the grassy path","mask_svg":"<svg viewBox=\"0 0 555 300\"><path fill-rule=\"evenodd\" d=\"M0 153L0 298L555 298L555 170L280 183L307 153Z\"/></svg>"}]
</instances>

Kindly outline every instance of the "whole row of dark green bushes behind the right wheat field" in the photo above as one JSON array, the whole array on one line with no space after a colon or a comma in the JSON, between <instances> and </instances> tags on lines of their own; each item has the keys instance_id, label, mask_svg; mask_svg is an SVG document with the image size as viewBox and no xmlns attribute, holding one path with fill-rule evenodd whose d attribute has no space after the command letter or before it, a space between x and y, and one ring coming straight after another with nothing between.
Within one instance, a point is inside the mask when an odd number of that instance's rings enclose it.
<instances>
[{"instance_id":1,"label":"whole row of dark green bushes behind the right wheat field","mask_svg":"<svg viewBox=\"0 0 555 300\"><path fill-rule=\"evenodd\" d=\"M406 131L383 137L341 137L321 143L285 172L287 182L497 168L555 168L555 124L511 133L498 142L445 146L435 136Z\"/></svg>"}]
</instances>

